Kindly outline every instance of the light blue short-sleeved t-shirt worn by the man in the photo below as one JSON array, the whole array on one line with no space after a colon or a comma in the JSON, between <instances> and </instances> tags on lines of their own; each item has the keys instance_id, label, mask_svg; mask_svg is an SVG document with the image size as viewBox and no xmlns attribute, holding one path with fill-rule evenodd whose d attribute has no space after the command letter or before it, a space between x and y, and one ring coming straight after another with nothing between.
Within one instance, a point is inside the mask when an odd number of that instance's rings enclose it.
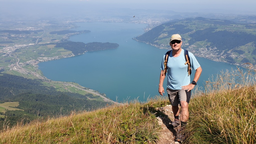
<instances>
[{"instance_id":1,"label":"light blue short-sleeved t-shirt worn by the man","mask_svg":"<svg viewBox=\"0 0 256 144\"><path fill-rule=\"evenodd\" d=\"M188 52L190 58L191 68L196 70L200 67L198 61L195 56ZM165 55L164 55L165 57ZM162 60L161 69L164 70L164 59ZM184 56L184 49L178 57L173 57L172 52L169 55L167 62L167 88L173 90L182 89L182 86L186 86L190 84L190 76L188 76L188 65L185 65L186 60Z\"/></svg>"}]
</instances>

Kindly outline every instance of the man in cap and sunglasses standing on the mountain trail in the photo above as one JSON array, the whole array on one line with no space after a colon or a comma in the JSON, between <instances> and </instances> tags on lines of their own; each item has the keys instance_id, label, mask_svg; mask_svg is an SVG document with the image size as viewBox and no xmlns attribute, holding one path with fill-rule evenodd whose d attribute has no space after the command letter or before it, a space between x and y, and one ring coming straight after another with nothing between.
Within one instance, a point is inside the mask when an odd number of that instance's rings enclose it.
<instances>
[{"instance_id":1,"label":"man in cap and sunglasses standing on the mountain trail","mask_svg":"<svg viewBox=\"0 0 256 144\"><path fill-rule=\"evenodd\" d=\"M189 112L188 103L191 96L191 90L197 85L197 81L201 75L202 68L196 60L195 56L188 52L189 62L191 67L196 70L195 77L190 83L190 73L188 72L188 65L186 65L184 49L181 48L182 38L179 34L174 34L170 38L170 46L172 48L167 62L167 93L172 105L174 114L174 121L169 125L169 128L175 128L180 125L184 129L187 124ZM163 96L164 88L163 81L165 78L165 55L161 65L161 74L159 80L158 92ZM179 111L178 104L180 104L181 112ZM179 120L180 113L180 120ZM175 141L181 142L184 136L177 136Z\"/></svg>"}]
</instances>

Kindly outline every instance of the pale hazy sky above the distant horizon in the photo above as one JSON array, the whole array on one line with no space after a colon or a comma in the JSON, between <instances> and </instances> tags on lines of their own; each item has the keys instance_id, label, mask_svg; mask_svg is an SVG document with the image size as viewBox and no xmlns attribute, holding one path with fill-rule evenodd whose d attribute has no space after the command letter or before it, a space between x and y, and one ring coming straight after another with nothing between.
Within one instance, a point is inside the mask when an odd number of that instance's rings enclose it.
<instances>
[{"instance_id":1,"label":"pale hazy sky above the distant horizon","mask_svg":"<svg viewBox=\"0 0 256 144\"><path fill-rule=\"evenodd\" d=\"M175 12L205 12L256 15L255 0L0 0L2 11L50 10L54 7L158 9Z\"/></svg>"}]
</instances>

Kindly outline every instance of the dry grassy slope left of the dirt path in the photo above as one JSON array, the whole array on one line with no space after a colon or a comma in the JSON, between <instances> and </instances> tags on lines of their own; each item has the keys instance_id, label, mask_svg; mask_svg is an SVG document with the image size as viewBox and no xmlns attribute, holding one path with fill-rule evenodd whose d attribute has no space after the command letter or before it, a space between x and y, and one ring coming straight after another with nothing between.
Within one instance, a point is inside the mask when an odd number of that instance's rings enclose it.
<instances>
[{"instance_id":1,"label":"dry grassy slope left of the dirt path","mask_svg":"<svg viewBox=\"0 0 256 144\"><path fill-rule=\"evenodd\" d=\"M160 127L152 106L161 100L150 101L18 124L0 133L0 143L154 143Z\"/></svg>"}]
</instances>

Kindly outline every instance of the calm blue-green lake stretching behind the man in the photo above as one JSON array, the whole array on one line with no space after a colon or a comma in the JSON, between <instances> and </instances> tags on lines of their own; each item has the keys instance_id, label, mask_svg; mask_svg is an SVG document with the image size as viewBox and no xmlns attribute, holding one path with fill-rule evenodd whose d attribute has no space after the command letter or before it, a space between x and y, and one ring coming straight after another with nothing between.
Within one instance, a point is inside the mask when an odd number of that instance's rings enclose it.
<instances>
[{"instance_id":1,"label":"calm blue-green lake stretching behind the man","mask_svg":"<svg viewBox=\"0 0 256 144\"><path fill-rule=\"evenodd\" d=\"M74 42L110 42L116 49L87 52L83 55L47 61L39 64L44 76L57 81L70 81L105 93L114 101L138 99L159 95L160 66L167 49L137 42L133 37L144 33L146 24L134 23L77 23L71 30L90 30L91 33L71 36ZM197 57L203 71L198 81L204 87L211 75L221 70L237 69L237 66ZM243 68L245 71L245 69ZM191 81L195 71L192 70ZM166 89L166 80L164 82ZM167 95L167 92L165 92Z\"/></svg>"}]
</instances>

